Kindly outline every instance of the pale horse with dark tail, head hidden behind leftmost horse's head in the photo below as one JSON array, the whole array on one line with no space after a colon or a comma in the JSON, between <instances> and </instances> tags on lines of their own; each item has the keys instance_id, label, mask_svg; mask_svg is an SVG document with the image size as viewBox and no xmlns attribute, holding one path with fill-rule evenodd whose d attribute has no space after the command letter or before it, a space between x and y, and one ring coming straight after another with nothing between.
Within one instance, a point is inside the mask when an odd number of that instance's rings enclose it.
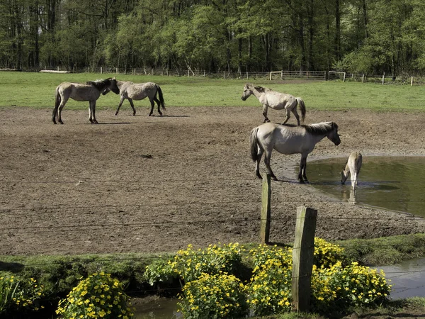
<instances>
[{"instance_id":1,"label":"pale horse with dark tail, head hidden behind leftmost horse's head","mask_svg":"<svg viewBox=\"0 0 425 319\"><path fill-rule=\"evenodd\" d=\"M130 81L117 81L117 86L120 89L118 93L120 94L121 99L117 111L115 112L115 116L118 115L118 111L120 111L120 107L123 105L123 101L125 99L128 99L128 101L130 102L130 106L133 109L133 116L136 115L136 109L135 105L132 103L132 100L138 101L145 99L145 97L148 97L151 103L151 111L149 113L149 116L152 116L152 113L154 111L154 101L158 104L158 113L160 116L162 116L160 106L162 106L162 110L165 111L164 96L162 95L162 89L158 84L154 82L133 83ZM108 91L109 90L106 89L105 91L103 91L102 94L108 94ZM157 99L157 94L159 95L159 99Z\"/></svg>"}]
</instances>

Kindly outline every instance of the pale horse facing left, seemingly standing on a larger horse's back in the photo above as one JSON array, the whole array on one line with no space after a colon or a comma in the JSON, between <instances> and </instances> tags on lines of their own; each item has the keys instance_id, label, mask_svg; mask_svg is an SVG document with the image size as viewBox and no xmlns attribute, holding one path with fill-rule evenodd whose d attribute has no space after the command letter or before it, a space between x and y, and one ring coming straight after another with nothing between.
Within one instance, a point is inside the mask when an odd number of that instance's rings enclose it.
<instances>
[{"instance_id":1,"label":"pale horse facing left, seemingly standing on a larger horse's back","mask_svg":"<svg viewBox=\"0 0 425 319\"><path fill-rule=\"evenodd\" d=\"M286 118L285 118L285 121L283 121L282 125L288 122L291 111L292 113L294 113L294 116L297 119L298 125L300 125L300 116L298 116L298 113L297 113L298 105L300 106L300 110L301 110L302 123L304 123L305 103L301 98L292 96L290 94L279 93L271 89L267 89L266 87L263 87L263 86L254 86L252 84L247 83L244 86L242 101L245 101L246 99L248 99L249 96L251 96L251 94L254 94L254 96L257 99L259 99L260 103L263 104L263 116L264 116L263 123L270 122L270 120L267 117L267 110L269 107L271 107L271 108L274 108L275 110L285 109Z\"/></svg>"}]
</instances>

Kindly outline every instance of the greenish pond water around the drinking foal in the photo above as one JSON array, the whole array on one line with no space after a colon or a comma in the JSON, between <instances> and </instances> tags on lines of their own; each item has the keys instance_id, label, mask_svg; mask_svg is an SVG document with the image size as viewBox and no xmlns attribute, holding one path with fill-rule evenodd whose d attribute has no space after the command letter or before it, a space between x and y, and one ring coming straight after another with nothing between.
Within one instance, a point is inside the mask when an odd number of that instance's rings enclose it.
<instances>
[{"instance_id":1,"label":"greenish pond water around the drinking foal","mask_svg":"<svg viewBox=\"0 0 425 319\"><path fill-rule=\"evenodd\" d=\"M425 157L363 156L356 192L350 177L341 185L347 158L308 162L310 184L342 201L425 217Z\"/></svg>"}]
</instances>

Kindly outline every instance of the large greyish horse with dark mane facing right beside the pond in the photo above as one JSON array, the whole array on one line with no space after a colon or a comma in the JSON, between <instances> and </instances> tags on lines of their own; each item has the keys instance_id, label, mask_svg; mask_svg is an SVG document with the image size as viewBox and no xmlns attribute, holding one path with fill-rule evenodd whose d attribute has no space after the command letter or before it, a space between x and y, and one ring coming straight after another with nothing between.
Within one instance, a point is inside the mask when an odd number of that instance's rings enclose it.
<instances>
[{"instance_id":1,"label":"large greyish horse with dark mane facing right beside the pond","mask_svg":"<svg viewBox=\"0 0 425 319\"><path fill-rule=\"evenodd\" d=\"M275 181L278 180L270 167L271 151L275 149L285 155L301 154L298 181L304 184L305 181L308 181L305 174L307 155L312 152L317 142L325 137L334 142L335 145L341 143L336 123L322 122L300 126L265 123L253 128L249 135L249 142L251 145L251 159L256 162L256 176L262 179L260 160L264 152L264 163L267 171Z\"/></svg>"}]
</instances>

